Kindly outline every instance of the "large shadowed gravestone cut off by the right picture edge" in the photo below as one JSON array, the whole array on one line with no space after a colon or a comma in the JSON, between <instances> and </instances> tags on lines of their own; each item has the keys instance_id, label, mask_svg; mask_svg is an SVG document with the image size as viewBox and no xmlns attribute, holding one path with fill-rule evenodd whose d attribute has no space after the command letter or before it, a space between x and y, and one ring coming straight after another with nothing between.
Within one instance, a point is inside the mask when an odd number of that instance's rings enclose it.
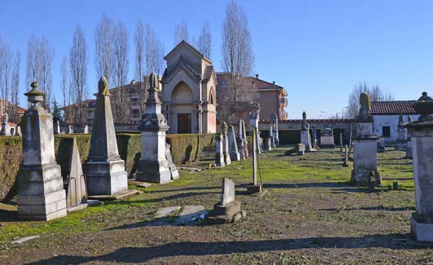
<instances>
[{"instance_id":1,"label":"large shadowed gravestone cut off by the right picture edge","mask_svg":"<svg viewBox=\"0 0 433 265\"><path fill-rule=\"evenodd\" d=\"M411 216L411 233L417 241L433 242L433 99L423 92L413 109L418 121L407 123L413 147L413 181L416 212Z\"/></svg>"}]
</instances>

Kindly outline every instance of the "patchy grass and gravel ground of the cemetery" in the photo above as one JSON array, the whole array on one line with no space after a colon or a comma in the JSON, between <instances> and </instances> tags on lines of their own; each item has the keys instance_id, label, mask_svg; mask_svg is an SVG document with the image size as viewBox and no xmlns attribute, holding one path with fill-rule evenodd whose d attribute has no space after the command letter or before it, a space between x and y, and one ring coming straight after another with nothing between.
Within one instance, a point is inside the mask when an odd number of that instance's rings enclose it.
<instances>
[{"instance_id":1,"label":"patchy grass and gravel ground of the cemetery","mask_svg":"<svg viewBox=\"0 0 433 265\"><path fill-rule=\"evenodd\" d=\"M258 156L263 197L245 193L249 158L201 172L181 169L172 183L51 222L19 222L16 206L2 204L0 264L433 264L433 244L410 236L413 167L404 152L378 154L383 187L369 193L349 184L352 163L342 167L339 149L283 156L291 147ZM235 181L246 218L226 225L152 218L161 206L212 210L223 177ZM388 188L392 181L399 190Z\"/></svg>"}]
</instances>

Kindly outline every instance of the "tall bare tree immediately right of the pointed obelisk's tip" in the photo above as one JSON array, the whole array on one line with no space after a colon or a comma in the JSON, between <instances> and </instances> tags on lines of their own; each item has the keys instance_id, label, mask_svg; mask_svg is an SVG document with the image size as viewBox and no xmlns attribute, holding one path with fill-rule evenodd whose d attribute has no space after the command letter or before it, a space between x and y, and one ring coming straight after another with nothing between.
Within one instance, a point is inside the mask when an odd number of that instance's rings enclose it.
<instances>
[{"instance_id":1,"label":"tall bare tree immediately right of the pointed obelisk's tip","mask_svg":"<svg viewBox=\"0 0 433 265\"><path fill-rule=\"evenodd\" d=\"M115 121L122 123L125 120L125 89L121 89L121 86L126 84L126 77L129 72L129 33L123 22L117 22L115 31L113 34L113 48L115 55L115 74L114 82L117 89L114 91L112 97L113 101L113 112L115 113Z\"/></svg>"}]
</instances>

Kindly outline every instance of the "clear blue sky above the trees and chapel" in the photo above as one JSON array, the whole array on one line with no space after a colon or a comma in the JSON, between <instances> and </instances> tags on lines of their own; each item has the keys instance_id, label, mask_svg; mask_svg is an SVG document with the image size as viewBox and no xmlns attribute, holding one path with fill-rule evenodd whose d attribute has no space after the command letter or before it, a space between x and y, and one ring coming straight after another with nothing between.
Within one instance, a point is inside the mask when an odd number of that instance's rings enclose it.
<instances>
[{"instance_id":1,"label":"clear blue sky above the trees and chapel","mask_svg":"<svg viewBox=\"0 0 433 265\"><path fill-rule=\"evenodd\" d=\"M433 93L432 1L244 1L256 54L254 73L288 91L289 118L341 112L353 85L379 84L396 100ZM130 77L133 79L133 31L142 19L173 48L175 26L184 20L198 37L203 22L212 28L212 61L221 66L221 24L226 1L1 1L0 34L22 53L24 93L27 40L44 33L54 45L54 95L61 100L61 57L68 54L75 26L89 45L89 79L96 91L94 30L106 12L123 20L130 33ZM25 106L24 96L20 96Z\"/></svg>"}]
</instances>

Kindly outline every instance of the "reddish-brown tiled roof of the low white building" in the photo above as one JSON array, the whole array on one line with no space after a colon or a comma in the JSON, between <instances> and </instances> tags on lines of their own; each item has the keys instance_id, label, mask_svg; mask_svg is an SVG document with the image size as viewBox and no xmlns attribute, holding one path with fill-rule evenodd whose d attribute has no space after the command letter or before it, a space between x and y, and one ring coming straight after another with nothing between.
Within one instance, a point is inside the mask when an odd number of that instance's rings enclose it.
<instances>
[{"instance_id":1,"label":"reddish-brown tiled roof of the low white building","mask_svg":"<svg viewBox=\"0 0 433 265\"><path fill-rule=\"evenodd\" d=\"M412 104L415 100L376 101L372 102L372 115L416 114Z\"/></svg>"}]
</instances>

